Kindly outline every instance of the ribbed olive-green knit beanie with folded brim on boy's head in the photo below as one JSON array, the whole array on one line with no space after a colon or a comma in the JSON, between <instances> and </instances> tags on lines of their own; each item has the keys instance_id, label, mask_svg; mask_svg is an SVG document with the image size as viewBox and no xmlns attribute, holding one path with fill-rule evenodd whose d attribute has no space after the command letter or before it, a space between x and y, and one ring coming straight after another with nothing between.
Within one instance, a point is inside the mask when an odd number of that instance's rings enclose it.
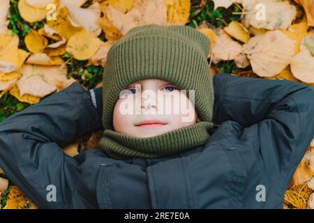
<instances>
[{"instance_id":1,"label":"ribbed olive-green knit beanie with folded brim on boy's head","mask_svg":"<svg viewBox=\"0 0 314 223\"><path fill-rule=\"evenodd\" d=\"M209 47L207 36L189 26L149 24L130 29L107 54L103 128L114 130L112 116L119 94L141 79L163 79L187 95L188 90L195 90L200 121L211 122L214 86L207 63Z\"/></svg>"}]
</instances>

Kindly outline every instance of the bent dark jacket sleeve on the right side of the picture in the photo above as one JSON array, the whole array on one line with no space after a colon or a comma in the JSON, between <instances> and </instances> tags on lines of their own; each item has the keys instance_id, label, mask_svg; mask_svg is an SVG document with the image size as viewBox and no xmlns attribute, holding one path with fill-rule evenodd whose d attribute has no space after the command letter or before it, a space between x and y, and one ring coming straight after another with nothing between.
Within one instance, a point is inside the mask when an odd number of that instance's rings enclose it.
<instances>
[{"instance_id":1,"label":"bent dark jacket sleeve on the right side of the picture","mask_svg":"<svg viewBox=\"0 0 314 223\"><path fill-rule=\"evenodd\" d=\"M247 127L244 137L254 139L267 175L285 190L314 137L314 88L222 73L214 77L214 91L214 122Z\"/></svg>"}]
</instances>

